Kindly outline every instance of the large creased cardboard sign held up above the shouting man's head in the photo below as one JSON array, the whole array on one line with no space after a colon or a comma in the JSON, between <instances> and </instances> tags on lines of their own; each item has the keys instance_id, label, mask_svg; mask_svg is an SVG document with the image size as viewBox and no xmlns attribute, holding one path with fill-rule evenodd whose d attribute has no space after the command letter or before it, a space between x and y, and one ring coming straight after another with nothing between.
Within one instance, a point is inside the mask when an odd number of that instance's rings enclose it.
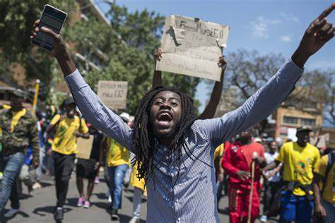
<instances>
[{"instance_id":1,"label":"large creased cardboard sign held up above the shouting man's head","mask_svg":"<svg viewBox=\"0 0 335 223\"><path fill-rule=\"evenodd\" d=\"M220 81L218 59L228 34L228 25L171 15L165 19L163 55L156 69Z\"/></svg>"}]
</instances>

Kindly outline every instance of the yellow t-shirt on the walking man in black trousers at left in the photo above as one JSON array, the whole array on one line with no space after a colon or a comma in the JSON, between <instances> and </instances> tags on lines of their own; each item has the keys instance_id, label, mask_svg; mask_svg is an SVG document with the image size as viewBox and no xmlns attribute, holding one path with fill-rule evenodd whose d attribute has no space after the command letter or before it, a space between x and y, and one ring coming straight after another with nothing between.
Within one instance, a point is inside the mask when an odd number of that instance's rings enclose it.
<instances>
[{"instance_id":1,"label":"yellow t-shirt on the walking man in black trousers at left","mask_svg":"<svg viewBox=\"0 0 335 223\"><path fill-rule=\"evenodd\" d=\"M52 151L59 152L64 155L78 153L77 137L74 135L76 131L81 133L88 133L86 122L78 116L73 119L66 117L59 121L61 116L55 115L51 125L57 124L56 134L54 135L54 142L52 143Z\"/></svg>"}]
</instances>

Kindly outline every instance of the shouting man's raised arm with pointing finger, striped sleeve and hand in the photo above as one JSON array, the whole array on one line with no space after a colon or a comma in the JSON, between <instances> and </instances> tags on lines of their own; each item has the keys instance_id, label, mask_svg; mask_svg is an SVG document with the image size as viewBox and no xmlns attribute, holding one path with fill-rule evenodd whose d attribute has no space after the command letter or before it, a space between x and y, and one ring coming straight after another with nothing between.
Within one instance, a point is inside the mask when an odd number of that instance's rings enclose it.
<instances>
[{"instance_id":1,"label":"shouting man's raised arm with pointing finger, striped sleeve and hand","mask_svg":"<svg viewBox=\"0 0 335 223\"><path fill-rule=\"evenodd\" d=\"M241 107L218 119L197 121L214 147L266 119L290 95L307 59L334 37L335 28L325 18L334 8L332 4L310 24L291 59Z\"/></svg>"}]
</instances>

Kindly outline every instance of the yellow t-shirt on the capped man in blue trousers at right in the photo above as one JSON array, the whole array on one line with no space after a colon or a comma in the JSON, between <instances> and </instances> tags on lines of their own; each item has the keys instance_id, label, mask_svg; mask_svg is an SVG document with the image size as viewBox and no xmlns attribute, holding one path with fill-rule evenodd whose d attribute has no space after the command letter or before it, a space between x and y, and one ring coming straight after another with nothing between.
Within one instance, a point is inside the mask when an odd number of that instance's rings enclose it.
<instances>
[{"instance_id":1,"label":"yellow t-shirt on the capped man in blue trousers at right","mask_svg":"<svg viewBox=\"0 0 335 223\"><path fill-rule=\"evenodd\" d=\"M320 159L317 147L307 143L306 147L300 147L297 143L285 143L276 158L283 162L283 180L299 181L301 184L310 184L313 179L313 169ZM295 195L306 195L301 188L295 187Z\"/></svg>"}]
</instances>

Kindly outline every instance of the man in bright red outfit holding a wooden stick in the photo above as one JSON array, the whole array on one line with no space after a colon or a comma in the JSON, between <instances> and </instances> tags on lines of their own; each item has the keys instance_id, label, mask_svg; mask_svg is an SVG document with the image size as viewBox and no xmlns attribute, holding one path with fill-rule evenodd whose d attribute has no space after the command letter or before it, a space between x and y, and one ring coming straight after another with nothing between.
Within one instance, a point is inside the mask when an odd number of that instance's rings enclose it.
<instances>
[{"instance_id":1,"label":"man in bright red outfit holding a wooden stick","mask_svg":"<svg viewBox=\"0 0 335 223\"><path fill-rule=\"evenodd\" d=\"M252 179L252 162L254 162L254 179ZM261 171L265 166L264 147L260 143L252 143L250 131L244 131L237 142L227 148L222 159L222 166L229 175L229 219L230 223L251 222L259 214L259 191L261 189ZM253 184L252 184L253 182ZM253 187L253 189L251 189ZM252 194L251 194L252 193ZM251 212L249 203L251 200ZM250 216L248 216L250 215Z\"/></svg>"}]
</instances>

